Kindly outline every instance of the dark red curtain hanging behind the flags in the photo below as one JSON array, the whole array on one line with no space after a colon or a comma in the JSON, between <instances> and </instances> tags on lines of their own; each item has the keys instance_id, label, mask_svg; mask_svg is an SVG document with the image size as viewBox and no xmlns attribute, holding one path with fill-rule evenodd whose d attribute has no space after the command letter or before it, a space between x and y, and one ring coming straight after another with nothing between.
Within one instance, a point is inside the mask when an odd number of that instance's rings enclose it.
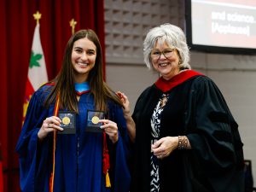
<instances>
[{"instance_id":1,"label":"dark red curtain hanging behind the flags","mask_svg":"<svg viewBox=\"0 0 256 192\"><path fill-rule=\"evenodd\" d=\"M77 21L75 31L95 30L103 53L105 49L103 0L0 1L0 143L5 192L20 191L15 145L20 135L32 35L36 26L32 15L37 11L42 14L40 34L49 79L53 79L61 68L63 52L72 34L70 20Z\"/></svg>"}]
</instances>

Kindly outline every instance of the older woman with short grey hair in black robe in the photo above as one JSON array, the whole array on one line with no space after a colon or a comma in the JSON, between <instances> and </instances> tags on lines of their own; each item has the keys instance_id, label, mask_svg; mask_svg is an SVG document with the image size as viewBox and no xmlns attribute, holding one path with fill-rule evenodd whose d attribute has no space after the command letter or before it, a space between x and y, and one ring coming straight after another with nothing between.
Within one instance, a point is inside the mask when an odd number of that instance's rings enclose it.
<instances>
[{"instance_id":1,"label":"older woman with short grey hair in black robe","mask_svg":"<svg viewBox=\"0 0 256 192\"><path fill-rule=\"evenodd\" d=\"M144 61L160 73L125 119L135 140L132 191L243 191L242 143L224 97L211 79L191 70L183 31L151 29Z\"/></svg>"}]
</instances>

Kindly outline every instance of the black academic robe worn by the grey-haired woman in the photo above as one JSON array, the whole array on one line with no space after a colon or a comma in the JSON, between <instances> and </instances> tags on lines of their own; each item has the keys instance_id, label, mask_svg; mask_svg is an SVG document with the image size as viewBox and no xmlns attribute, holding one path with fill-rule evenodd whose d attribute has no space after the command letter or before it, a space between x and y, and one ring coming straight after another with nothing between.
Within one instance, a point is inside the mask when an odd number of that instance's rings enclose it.
<instances>
[{"instance_id":1,"label":"black academic robe worn by the grey-haired woman","mask_svg":"<svg viewBox=\"0 0 256 192\"><path fill-rule=\"evenodd\" d=\"M187 136L192 149L176 149L160 160L160 192L242 192L241 138L218 87L204 75L174 84L171 90L153 84L137 100L132 115L137 132L131 191L150 190L150 119L160 96L167 92L160 137Z\"/></svg>"}]
</instances>

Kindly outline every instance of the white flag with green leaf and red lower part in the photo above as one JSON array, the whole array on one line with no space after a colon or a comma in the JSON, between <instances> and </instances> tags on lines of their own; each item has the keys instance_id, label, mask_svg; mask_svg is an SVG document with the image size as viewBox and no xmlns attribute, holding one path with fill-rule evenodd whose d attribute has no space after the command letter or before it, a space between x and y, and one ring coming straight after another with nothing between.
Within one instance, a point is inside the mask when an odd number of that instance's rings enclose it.
<instances>
[{"instance_id":1,"label":"white flag with green leaf and red lower part","mask_svg":"<svg viewBox=\"0 0 256 192\"><path fill-rule=\"evenodd\" d=\"M28 75L26 79L26 91L23 104L23 121L26 116L26 108L32 94L38 88L48 82L46 65L44 61L44 52L40 40L39 24L35 27L32 40L32 51L28 67Z\"/></svg>"}]
</instances>

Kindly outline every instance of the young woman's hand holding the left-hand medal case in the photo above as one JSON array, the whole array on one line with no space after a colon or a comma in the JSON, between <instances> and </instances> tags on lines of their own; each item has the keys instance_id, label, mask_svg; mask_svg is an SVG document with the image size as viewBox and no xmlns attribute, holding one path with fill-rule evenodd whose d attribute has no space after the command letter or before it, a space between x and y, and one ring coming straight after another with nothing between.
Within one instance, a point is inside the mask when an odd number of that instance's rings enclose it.
<instances>
[{"instance_id":1,"label":"young woman's hand holding the left-hand medal case","mask_svg":"<svg viewBox=\"0 0 256 192\"><path fill-rule=\"evenodd\" d=\"M63 131L61 128L61 119L56 116L51 116L49 118L44 119L44 122L38 131L38 138L39 140L43 140L49 132L52 131Z\"/></svg>"}]
</instances>

